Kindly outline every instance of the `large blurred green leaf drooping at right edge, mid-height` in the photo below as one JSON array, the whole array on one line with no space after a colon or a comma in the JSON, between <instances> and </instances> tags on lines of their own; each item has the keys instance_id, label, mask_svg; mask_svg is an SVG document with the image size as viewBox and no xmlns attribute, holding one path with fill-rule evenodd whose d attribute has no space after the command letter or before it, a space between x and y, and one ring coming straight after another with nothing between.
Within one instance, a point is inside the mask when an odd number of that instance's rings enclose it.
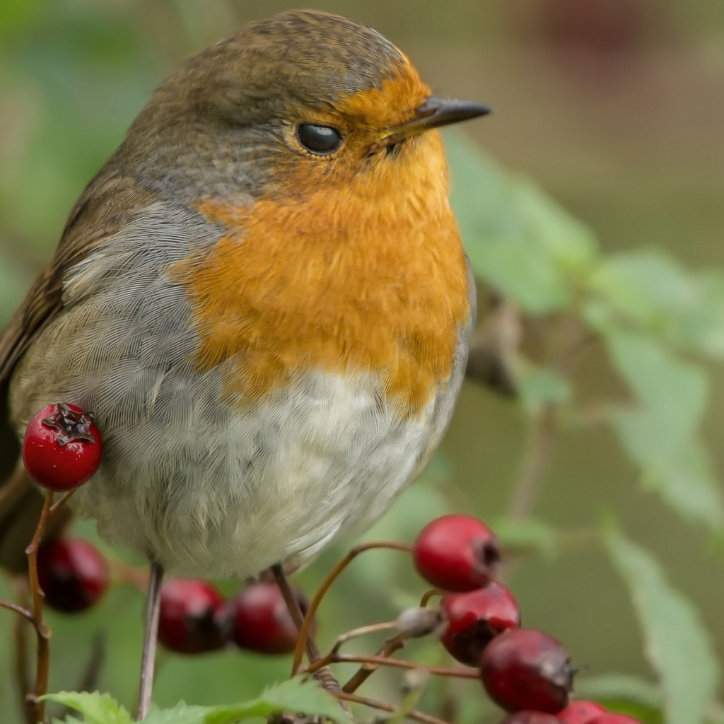
<instances>
[{"instance_id":1,"label":"large blurred green leaf drooping at right edge, mid-height","mask_svg":"<svg viewBox=\"0 0 724 724\"><path fill-rule=\"evenodd\" d=\"M724 502L707 450L699 441L709 385L700 366L683 362L642 334L599 327L614 366L637 397L611 424L644 484L674 510L712 529L724 526Z\"/></svg>"}]
</instances>

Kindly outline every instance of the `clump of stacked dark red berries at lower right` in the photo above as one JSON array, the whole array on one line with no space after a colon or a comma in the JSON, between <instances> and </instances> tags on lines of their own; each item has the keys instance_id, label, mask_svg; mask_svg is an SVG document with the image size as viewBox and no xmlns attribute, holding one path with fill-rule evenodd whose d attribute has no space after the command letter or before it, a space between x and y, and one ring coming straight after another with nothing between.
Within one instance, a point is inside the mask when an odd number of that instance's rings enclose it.
<instances>
[{"instance_id":1,"label":"clump of stacked dark red berries at lower right","mask_svg":"<svg viewBox=\"0 0 724 724\"><path fill-rule=\"evenodd\" d=\"M637 724L594 702L569 702L571 657L547 633L521 628L513 594L494 581L500 558L492 531L468 515L437 518L413 545L418 573L445 592L442 644L477 667L490 698L512 712L500 724Z\"/></svg>"}]
</instances>

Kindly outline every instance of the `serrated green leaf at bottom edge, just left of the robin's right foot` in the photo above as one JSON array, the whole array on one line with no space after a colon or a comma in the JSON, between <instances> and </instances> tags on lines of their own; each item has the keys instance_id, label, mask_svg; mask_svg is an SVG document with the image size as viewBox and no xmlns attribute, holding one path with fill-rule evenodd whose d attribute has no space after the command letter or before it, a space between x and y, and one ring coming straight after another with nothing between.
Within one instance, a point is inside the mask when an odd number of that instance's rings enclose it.
<instances>
[{"instance_id":1,"label":"serrated green leaf at bottom edge, just left of the robin's right foot","mask_svg":"<svg viewBox=\"0 0 724 724\"><path fill-rule=\"evenodd\" d=\"M211 707L203 724L232 724L251 717L268 717L279 712L320 715L325 719L347 721L348 716L334 696L313 680L292 678L265 689L258 699L232 706Z\"/></svg>"}]
</instances>

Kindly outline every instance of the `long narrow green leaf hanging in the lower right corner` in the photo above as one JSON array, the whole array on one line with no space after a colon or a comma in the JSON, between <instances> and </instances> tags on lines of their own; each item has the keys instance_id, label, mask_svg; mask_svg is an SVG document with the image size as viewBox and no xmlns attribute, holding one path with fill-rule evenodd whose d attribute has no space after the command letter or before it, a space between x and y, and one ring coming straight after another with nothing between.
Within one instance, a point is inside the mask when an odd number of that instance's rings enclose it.
<instances>
[{"instance_id":1,"label":"long narrow green leaf hanging in the lower right corner","mask_svg":"<svg viewBox=\"0 0 724 724\"><path fill-rule=\"evenodd\" d=\"M667 724L702 724L715 700L720 667L689 599L673 589L649 553L612 529L611 560L631 591L645 654L660 677Z\"/></svg>"}]
</instances>

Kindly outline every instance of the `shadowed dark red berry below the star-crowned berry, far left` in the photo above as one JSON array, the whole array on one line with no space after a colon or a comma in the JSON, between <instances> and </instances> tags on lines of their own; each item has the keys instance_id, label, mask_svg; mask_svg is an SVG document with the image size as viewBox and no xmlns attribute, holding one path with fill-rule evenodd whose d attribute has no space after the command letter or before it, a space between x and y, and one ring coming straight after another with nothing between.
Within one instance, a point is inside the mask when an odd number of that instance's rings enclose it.
<instances>
[{"instance_id":1,"label":"shadowed dark red berry below the star-crowned berry, far left","mask_svg":"<svg viewBox=\"0 0 724 724\"><path fill-rule=\"evenodd\" d=\"M108 566L88 541L49 540L38 549L38 581L51 608L78 613L90 608L106 592Z\"/></svg>"}]
</instances>

